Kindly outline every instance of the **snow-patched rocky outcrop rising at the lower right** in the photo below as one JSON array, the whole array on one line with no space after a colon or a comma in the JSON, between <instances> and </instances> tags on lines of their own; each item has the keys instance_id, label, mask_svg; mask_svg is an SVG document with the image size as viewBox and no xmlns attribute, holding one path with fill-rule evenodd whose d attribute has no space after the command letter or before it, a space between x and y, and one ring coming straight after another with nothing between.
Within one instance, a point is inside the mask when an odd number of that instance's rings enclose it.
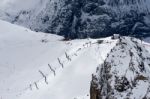
<instances>
[{"instance_id":1,"label":"snow-patched rocky outcrop rising at the lower right","mask_svg":"<svg viewBox=\"0 0 150 99\"><path fill-rule=\"evenodd\" d=\"M135 38L122 37L98 67L97 76L93 75L91 99L150 98L149 75L150 54L145 46Z\"/></svg>"}]
</instances>

